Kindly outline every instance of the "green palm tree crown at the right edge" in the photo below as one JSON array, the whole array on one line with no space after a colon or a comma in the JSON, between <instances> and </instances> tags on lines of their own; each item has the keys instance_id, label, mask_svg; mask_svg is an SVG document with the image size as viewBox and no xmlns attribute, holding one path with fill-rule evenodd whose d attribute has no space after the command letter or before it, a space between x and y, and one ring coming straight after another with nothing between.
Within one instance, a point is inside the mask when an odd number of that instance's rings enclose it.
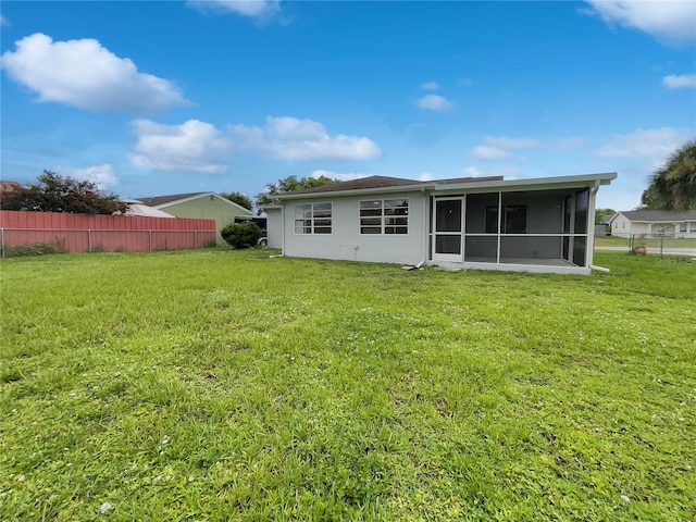
<instances>
[{"instance_id":1,"label":"green palm tree crown at the right edge","mask_svg":"<svg viewBox=\"0 0 696 522\"><path fill-rule=\"evenodd\" d=\"M655 171L641 201L650 210L696 209L696 139L684 142Z\"/></svg>"}]
</instances>

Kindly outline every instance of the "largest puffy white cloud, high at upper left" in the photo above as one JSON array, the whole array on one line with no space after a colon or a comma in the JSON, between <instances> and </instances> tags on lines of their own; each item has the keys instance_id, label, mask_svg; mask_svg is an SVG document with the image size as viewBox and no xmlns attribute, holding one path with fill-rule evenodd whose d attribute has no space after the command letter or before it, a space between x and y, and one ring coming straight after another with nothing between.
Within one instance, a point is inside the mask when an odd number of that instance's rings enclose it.
<instances>
[{"instance_id":1,"label":"largest puffy white cloud, high at upper left","mask_svg":"<svg viewBox=\"0 0 696 522\"><path fill-rule=\"evenodd\" d=\"M53 41L36 33L5 51L1 65L14 82L37 92L38 101L55 101L95 111L160 112L187 104L166 79L138 72L99 41Z\"/></svg>"}]
</instances>

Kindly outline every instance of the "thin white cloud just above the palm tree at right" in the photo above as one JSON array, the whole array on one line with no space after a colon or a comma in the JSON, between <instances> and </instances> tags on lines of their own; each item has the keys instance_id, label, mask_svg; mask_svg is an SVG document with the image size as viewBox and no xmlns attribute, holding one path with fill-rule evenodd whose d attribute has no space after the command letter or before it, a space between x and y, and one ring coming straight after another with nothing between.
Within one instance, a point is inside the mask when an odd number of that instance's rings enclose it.
<instances>
[{"instance_id":1,"label":"thin white cloud just above the palm tree at right","mask_svg":"<svg viewBox=\"0 0 696 522\"><path fill-rule=\"evenodd\" d=\"M688 137L688 132L679 128L638 128L631 134L614 135L610 144L595 152L602 158L637 158L658 163Z\"/></svg>"}]
</instances>

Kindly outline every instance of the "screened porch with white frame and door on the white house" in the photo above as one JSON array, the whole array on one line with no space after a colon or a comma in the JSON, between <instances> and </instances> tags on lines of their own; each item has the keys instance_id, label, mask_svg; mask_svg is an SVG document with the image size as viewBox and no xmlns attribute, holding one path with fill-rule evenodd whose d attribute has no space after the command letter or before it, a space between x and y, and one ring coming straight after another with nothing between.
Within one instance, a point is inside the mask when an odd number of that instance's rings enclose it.
<instances>
[{"instance_id":1,"label":"screened porch with white frame and door on the white house","mask_svg":"<svg viewBox=\"0 0 696 522\"><path fill-rule=\"evenodd\" d=\"M587 268L589 199L589 187L433 196L431 260Z\"/></svg>"}]
</instances>

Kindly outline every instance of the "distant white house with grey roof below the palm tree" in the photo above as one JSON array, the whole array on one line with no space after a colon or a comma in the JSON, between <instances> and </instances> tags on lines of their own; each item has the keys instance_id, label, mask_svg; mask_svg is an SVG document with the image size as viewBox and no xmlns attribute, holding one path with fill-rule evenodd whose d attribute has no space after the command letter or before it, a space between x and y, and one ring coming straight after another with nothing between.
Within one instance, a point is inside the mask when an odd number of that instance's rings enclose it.
<instances>
[{"instance_id":1,"label":"distant white house with grey roof below the palm tree","mask_svg":"<svg viewBox=\"0 0 696 522\"><path fill-rule=\"evenodd\" d=\"M609 221L611 235L696 237L696 210L666 212L630 210L617 212Z\"/></svg>"}]
</instances>

